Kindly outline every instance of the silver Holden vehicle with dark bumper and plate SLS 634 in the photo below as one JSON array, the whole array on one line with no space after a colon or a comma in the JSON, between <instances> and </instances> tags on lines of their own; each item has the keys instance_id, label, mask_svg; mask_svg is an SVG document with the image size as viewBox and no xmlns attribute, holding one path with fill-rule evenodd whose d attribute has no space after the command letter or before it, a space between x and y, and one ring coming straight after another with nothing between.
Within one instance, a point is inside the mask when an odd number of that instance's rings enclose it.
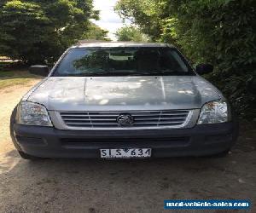
<instances>
[{"instance_id":1,"label":"silver Holden vehicle with dark bumper and plate SLS 634","mask_svg":"<svg viewBox=\"0 0 256 213\"><path fill-rule=\"evenodd\" d=\"M80 43L15 107L22 158L157 158L227 153L237 122L224 95L165 43Z\"/></svg>"}]
</instances>

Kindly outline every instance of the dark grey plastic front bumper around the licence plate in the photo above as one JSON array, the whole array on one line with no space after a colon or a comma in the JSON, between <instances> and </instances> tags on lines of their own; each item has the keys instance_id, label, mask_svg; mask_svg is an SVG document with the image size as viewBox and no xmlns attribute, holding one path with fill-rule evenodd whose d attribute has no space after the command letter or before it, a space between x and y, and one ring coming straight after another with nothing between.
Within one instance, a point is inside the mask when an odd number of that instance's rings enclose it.
<instances>
[{"instance_id":1,"label":"dark grey plastic front bumper around the licence plate","mask_svg":"<svg viewBox=\"0 0 256 213\"><path fill-rule=\"evenodd\" d=\"M152 148L152 157L201 156L230 149L237 124L196 125L173 130L56 130L14 124L15 147L43 158L100 158L101 148Z\"/></svg>"}]
</instances>

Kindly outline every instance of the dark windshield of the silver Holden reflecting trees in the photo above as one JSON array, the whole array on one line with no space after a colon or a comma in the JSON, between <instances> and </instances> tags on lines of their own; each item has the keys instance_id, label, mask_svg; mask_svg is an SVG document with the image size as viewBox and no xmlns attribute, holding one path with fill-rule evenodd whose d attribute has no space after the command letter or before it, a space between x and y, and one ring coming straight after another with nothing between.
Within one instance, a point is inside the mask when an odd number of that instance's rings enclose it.
<instances>
[{"instance_id":1,"label":"dark windshield of the silver Holden reflecting trees","mask_svg":"<svg viewBox=\"0 0 256 213\"><path fill-rule=\"evenodd\" d=\"M73 48L53 76L195 75L173 48Z\"/></svg>"}]
</instances>

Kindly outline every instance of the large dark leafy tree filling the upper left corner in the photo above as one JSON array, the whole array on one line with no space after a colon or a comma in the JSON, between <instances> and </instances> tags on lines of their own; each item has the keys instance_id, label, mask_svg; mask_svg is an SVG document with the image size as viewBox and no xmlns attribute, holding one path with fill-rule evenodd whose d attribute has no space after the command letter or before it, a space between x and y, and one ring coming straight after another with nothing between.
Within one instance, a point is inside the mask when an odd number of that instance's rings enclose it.
<instances>
[{"instance_id":1,"label":"large dark leafy tree filling the upper left corner","mask_svg":"<svg viewBox=\"0 0 256 213\"><path fill-rule=\"evenodd\" d=\"M9 0L0 5L0 55L53 62L97 18L92 0Z\"/></svg>"}]
</instances>

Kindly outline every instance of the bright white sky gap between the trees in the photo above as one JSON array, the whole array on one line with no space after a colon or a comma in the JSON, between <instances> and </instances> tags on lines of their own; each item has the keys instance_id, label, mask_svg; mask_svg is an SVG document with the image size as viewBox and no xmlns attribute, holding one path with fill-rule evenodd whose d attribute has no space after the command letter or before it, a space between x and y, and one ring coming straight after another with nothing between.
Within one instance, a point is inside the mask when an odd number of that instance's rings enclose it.
<instances>
[{"instance_id":1,"label":"bright white sky gap between the trees","mask_svg":"<svg viewBox=\"0 0 256 213\"><path fill-rule=\"evenodd\" d=\"M114 33L117 29L124 26L122 19L114 13L113 7L118 0L94 0L94 8L100 10L100 20L93 22L102 29L107 30L108 37L116 40Z\"/></svg>"}]
</instances>

